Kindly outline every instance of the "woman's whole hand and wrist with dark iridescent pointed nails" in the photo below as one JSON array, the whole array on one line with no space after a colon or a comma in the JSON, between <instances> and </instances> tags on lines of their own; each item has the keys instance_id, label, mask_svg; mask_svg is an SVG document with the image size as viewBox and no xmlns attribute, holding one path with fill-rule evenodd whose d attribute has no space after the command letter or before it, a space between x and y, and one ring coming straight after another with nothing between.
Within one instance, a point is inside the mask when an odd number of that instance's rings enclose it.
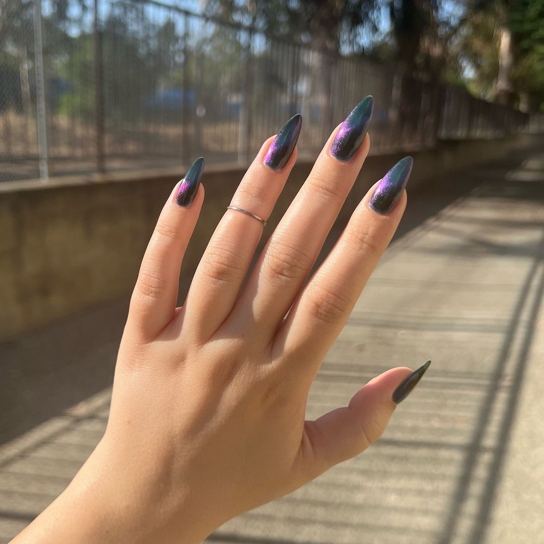
<instances>
[{"instance_id":1,"label":"woman's whole hand and wrist with dark iridescent pointed nails","mask_svg":"<svg viewBox=\"0 0 544 544\"><path fill-rule=\"evenodd\" d=\"M280 497L373 443L421 378L395 368L305 421L308 390L406 205L405 158L353 213L306 283L367 156L372 98L338 127L242 288L296 159L300 116L267 140L176 308L203 160L166 202L131 300L106 433L27 542L183 542ZM387 354L384 354L387 357ZM407 380L406 380L407 379ZM400 387L399 387L400 384ZM395 389L397 391L395 392Z\"/></svg>"}]
</instances>

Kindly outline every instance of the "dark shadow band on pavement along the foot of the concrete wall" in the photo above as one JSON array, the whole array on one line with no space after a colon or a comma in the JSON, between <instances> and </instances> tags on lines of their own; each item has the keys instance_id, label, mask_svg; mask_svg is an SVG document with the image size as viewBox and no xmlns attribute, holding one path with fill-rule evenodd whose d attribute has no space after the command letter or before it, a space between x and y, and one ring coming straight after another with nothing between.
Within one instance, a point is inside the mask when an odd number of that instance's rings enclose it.
<instances>
[{"instance_id":1,"label":"dark shadow band on pavement along the foot of the concrete wall","mask_svg":"<svg viewBox=\"0 0 544 544\"><path fill-rule=\"evenodd\" d=\"M410 198L394 239L459 201L481 183L464 174L448 176L444 186L426 184ZM318 262L330 251L342 229L331 230ZM29 335L0 342L7 382L0 399L0 443L108 387L128 311L128 299L97 306Z\"/></svg>"}]
</instances>

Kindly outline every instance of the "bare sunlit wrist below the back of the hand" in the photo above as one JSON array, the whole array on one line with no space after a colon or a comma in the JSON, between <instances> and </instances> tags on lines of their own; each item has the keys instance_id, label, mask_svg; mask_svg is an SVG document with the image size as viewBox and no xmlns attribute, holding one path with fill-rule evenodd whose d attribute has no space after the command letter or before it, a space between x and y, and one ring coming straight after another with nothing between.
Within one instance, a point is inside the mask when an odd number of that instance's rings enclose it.
<instances>
[{"instance_id":1,"label":"bare sunlit wrist below the back of the hand","mask_svg":"<svg viewBox=\"0 0 544 544\"><path fill-rule=\"evenodd\" d=\"M14 540L40 544L197 544L215 527L190 512L188 497L170 497L149 475L109 465L98 444L70 485ZM163 489L159 489L163 487ZM191 515L192 514L192 515Z\"/></svg>"}]
</instances>

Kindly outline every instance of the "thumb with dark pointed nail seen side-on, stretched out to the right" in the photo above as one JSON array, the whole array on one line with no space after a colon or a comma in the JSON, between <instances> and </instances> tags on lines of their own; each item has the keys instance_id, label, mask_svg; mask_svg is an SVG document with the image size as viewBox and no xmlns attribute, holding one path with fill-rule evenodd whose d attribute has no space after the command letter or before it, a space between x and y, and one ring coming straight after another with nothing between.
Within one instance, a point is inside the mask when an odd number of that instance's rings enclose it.
<instances>
[{"instance_id":1,"label":"thumb with dark pointed nail seen side-on, stretched out to the right","mask_svg":"<svg viewBox=\"0 0 544 544\"><path fill-rule=\"evenodd\" d=\"M417 385L429 364L427 361L414 372L406 367L387 370L357 391L348 406L306 421L302 441L306 451L300 456L307 464L304 472L316 478L378 440L395 406Z\"/></svg>"}]
</instances>

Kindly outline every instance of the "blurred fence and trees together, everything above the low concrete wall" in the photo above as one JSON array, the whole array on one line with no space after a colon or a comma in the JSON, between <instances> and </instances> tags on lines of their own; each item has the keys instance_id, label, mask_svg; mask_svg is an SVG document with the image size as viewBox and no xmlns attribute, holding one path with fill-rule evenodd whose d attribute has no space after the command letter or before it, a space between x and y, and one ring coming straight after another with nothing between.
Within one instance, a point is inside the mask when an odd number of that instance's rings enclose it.
<instances>
[{"instance_id":1,"label":"blurred fence and trees together, everything above the low concrete wall","mask_svg":"<svg viewBox=\"0 0 544 544\"><path fill-rule=\"evenodd\" d=\"M4 0L0 180L246 162L363 93L373 152L542 128L541 2ZM493 106L491 106L493 103ZM533 115L529 115L529 113Z\"/></svg>"}]
</instances>

